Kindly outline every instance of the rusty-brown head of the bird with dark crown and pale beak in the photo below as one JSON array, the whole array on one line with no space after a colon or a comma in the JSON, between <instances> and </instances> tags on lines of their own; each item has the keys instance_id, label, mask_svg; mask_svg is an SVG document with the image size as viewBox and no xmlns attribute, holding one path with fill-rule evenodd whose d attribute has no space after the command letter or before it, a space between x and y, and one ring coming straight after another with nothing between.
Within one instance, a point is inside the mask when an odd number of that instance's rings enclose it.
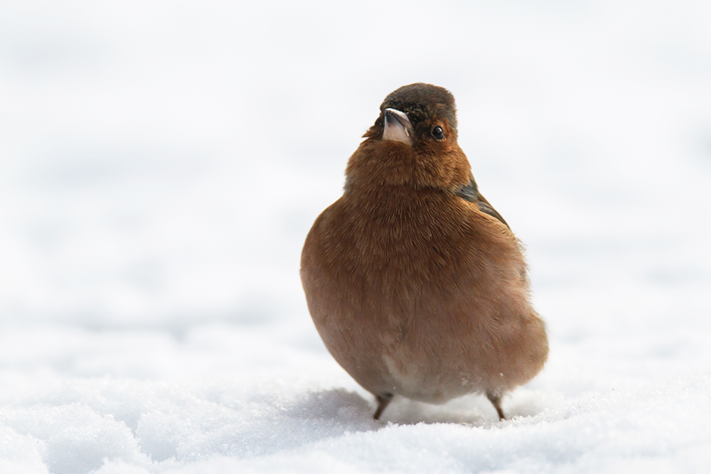
<instances>
[{"instance_id":1,"label":"rusty-brown head of the bird with dark crown and pale beak","mask_svg":"<svg viewBox=\"0 0 711 474\"><path fill-rule=\"evenodd\" d=\"M418 82L391 92L348 163L351 183L453 189L471 176L456 142L454 97Z\"/></svg>"}]
</instances>

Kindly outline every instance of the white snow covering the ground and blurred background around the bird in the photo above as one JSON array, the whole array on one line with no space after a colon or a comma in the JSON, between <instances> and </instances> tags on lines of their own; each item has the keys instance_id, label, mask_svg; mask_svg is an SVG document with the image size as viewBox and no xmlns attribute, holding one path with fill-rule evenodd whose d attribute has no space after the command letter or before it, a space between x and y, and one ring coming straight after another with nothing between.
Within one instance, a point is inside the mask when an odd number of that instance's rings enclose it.
<instances>
[{"instance_id":1,"label":"white snow covering the ground and blurred background around the bird","mask_svg":"<svg viewBox=\"0 0 711 474\"><path fill-rule=\"evenodd\" d=\"M0 2L0 471L707 472L710 18ZM551 352L503 423L481 397L373 422L301 293L306 232L411 82L454 93L528 247Z\"/></svg>"}]
</instances>

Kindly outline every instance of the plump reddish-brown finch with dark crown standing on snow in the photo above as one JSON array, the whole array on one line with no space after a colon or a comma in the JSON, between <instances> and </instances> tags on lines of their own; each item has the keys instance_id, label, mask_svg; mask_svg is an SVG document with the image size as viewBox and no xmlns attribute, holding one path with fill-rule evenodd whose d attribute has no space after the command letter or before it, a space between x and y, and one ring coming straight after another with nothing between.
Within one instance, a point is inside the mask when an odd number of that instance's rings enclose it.
<instances>
[{"instance_id":1,"label":"plump reddish-brown finch with dark crown standing on snow","mask_svg":"<svg viewBox=\"0 0 711 474\"><path fill-rule=\"evenodd\" d=\"M457 144L454 96L391 92L349 158L343 195L301 252L306 303L328 352L375 395L443 404L504 394L548 355L523 245L479 192Z\"/></svg>"}]
</instances>

